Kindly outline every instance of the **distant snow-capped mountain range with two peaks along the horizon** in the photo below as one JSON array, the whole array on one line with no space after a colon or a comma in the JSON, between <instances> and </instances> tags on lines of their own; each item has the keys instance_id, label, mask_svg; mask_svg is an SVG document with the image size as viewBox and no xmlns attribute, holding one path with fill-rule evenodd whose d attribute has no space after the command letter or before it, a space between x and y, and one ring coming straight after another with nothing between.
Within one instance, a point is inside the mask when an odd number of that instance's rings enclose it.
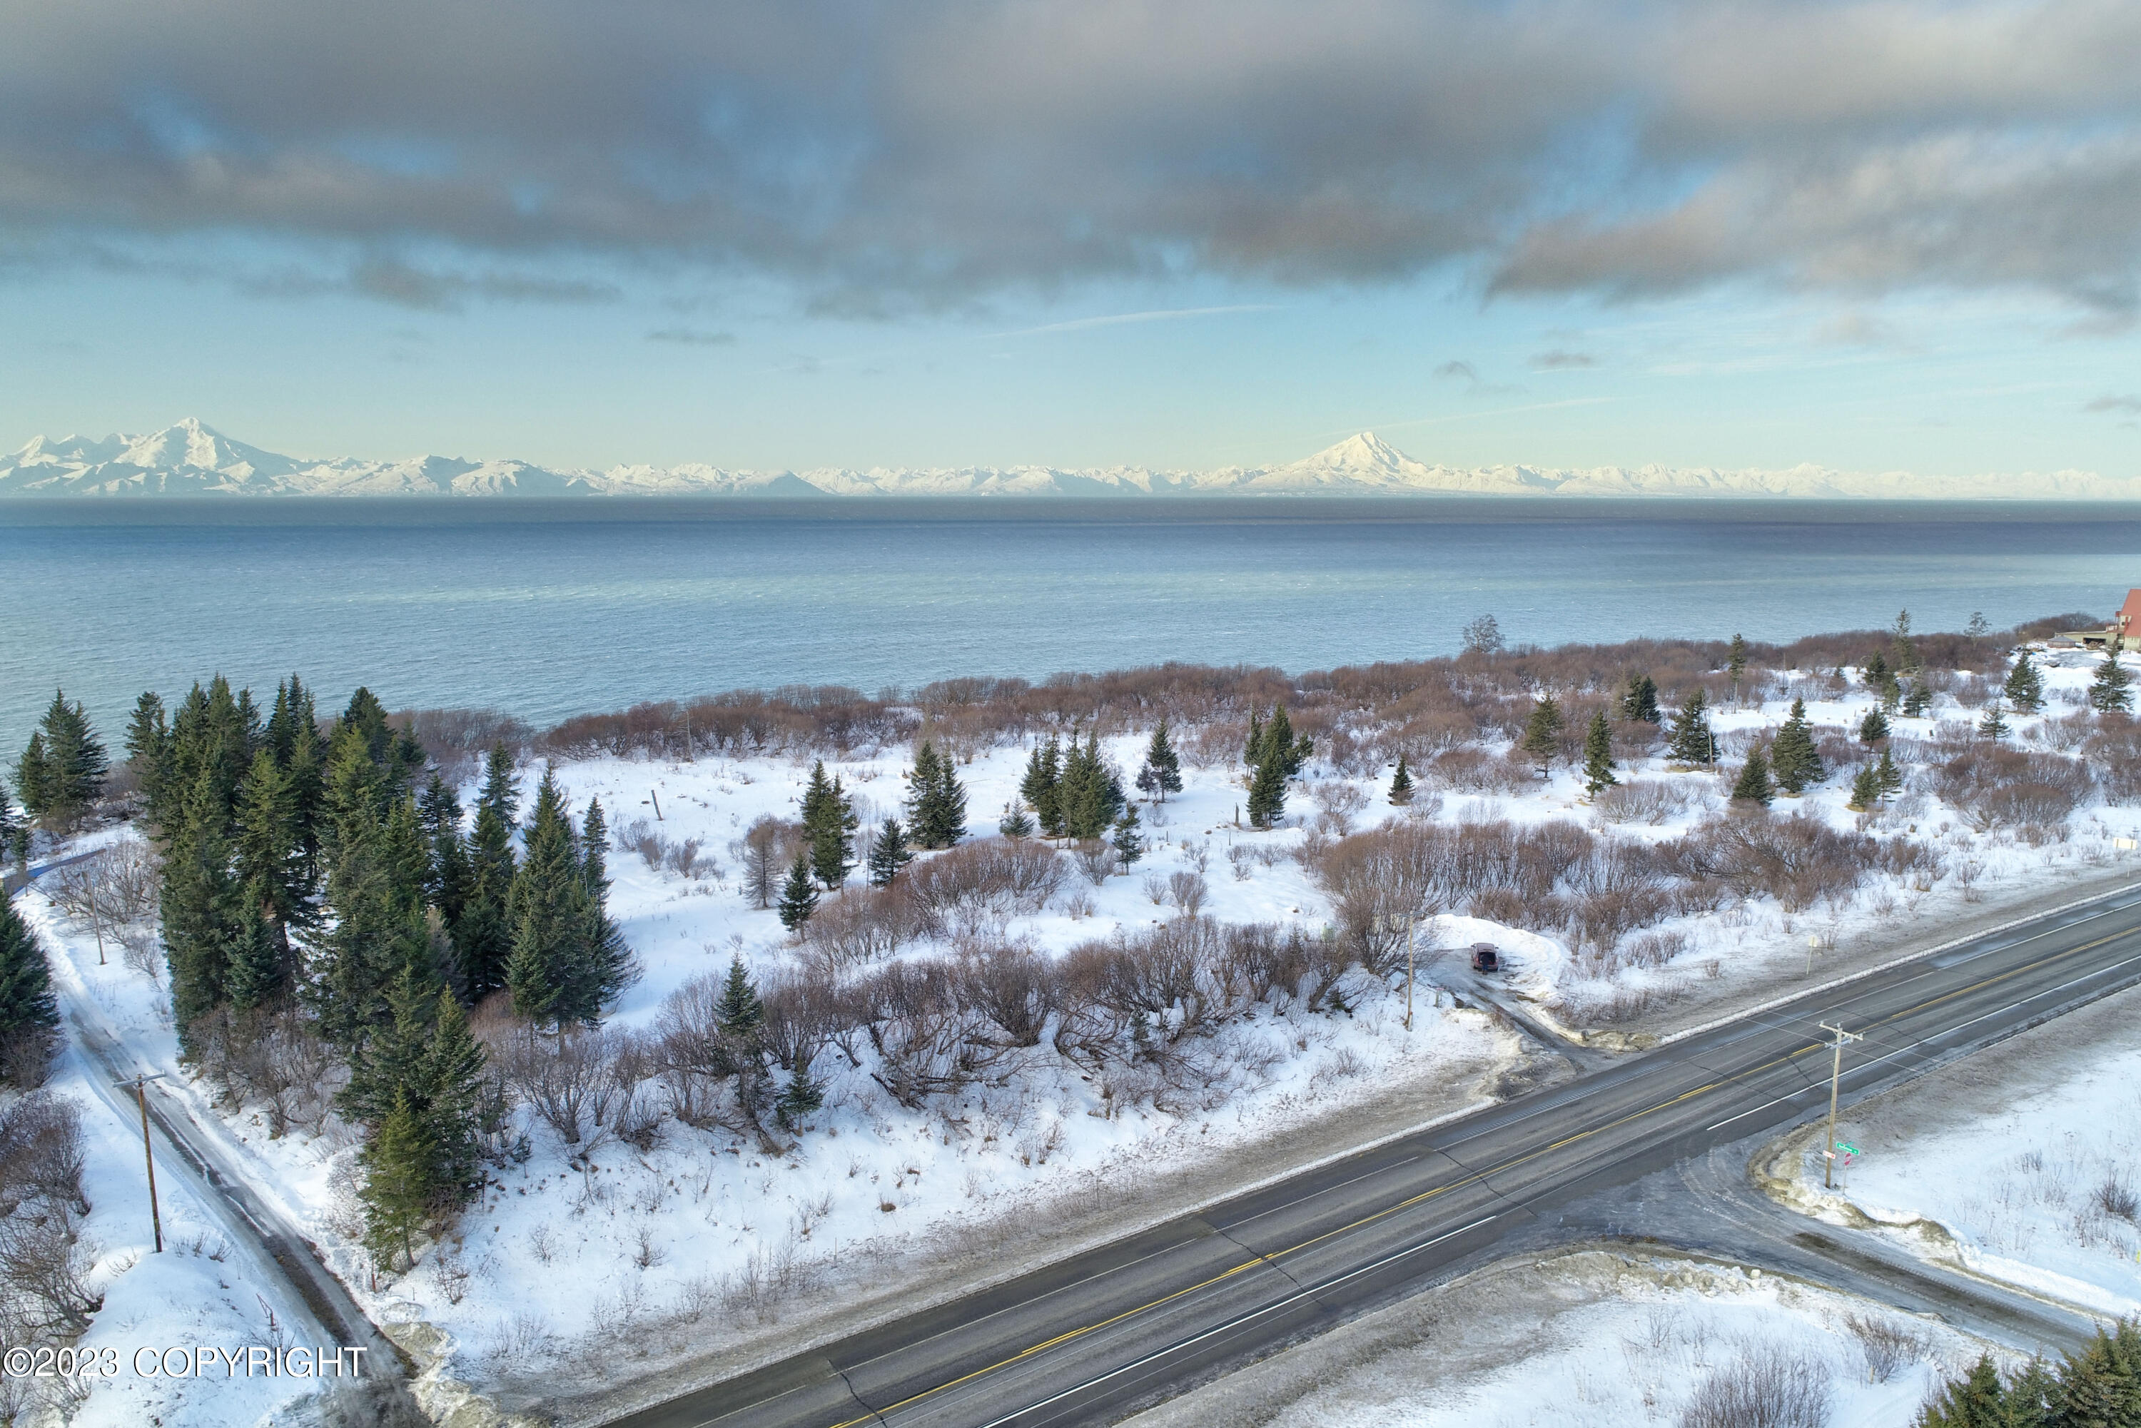
<instances>
[{"instance_id":1,"label":"distant snow-capped mountain range with two peaks along the horizon","mask_svg":"<svg viewBox=\"0 0 2141 1428\"><path fill-rule=\"evenodd\" d=\"M525 460L278 456L186 417L146 437L36 437L0 456L0 497L1813 497L2132 501L2141 477L1843 473L1826 467L1443 467L1372 432L1304 460L1218 471L944 467L724 471L707 465L550 471Z\"/></svg>"}]
</instances>

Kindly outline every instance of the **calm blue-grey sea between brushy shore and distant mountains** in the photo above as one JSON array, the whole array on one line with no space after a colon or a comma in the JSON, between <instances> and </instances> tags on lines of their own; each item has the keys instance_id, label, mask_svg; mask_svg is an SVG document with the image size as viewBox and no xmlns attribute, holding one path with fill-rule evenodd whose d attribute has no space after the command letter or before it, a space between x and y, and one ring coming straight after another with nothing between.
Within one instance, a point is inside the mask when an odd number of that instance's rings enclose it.
<instances>
[{"instance_id":1,"label":"calm blue-grey sea between brushy shore and distant mountains","mask_svg":"<svg viewBox=\"0 0 2141 1428\"><path fill-rule=\"evenodd\" d=\"M1775 501L0 505L0 751L56 685L298 670L535 724L734 687L2109 612L2132 507Z\"/></svg>"}]
</instances>

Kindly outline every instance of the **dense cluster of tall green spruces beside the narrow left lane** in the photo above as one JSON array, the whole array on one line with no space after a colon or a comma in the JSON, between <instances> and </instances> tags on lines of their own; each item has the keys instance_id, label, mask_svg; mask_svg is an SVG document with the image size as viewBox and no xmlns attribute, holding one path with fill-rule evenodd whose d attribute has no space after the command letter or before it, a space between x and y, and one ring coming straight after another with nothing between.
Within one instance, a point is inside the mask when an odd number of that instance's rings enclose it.
<instances>
[{"instance_id":1,"label":"dense cluster of tall green spruces beside the narrow left lane","mask_svg":"<svg viewBox=\"0 0 2141 1428\"><path fill-rule=\"evenodd\" d=\"M522 822L495 745L471 820L368 689L323 724L298 677L265 717L221 677L173 711L143 694L126 754L163 854L182 1053L289 1013L332 1043L349 1064L338 1105L370 1133L373 1248L407 1255L428 1216L477 1192L503 1115L469 1008L501 996L537 1028L591 1026L634 976L606 908L602 805L576 822L546 769Z\"/></svg>"}]
</instances>

